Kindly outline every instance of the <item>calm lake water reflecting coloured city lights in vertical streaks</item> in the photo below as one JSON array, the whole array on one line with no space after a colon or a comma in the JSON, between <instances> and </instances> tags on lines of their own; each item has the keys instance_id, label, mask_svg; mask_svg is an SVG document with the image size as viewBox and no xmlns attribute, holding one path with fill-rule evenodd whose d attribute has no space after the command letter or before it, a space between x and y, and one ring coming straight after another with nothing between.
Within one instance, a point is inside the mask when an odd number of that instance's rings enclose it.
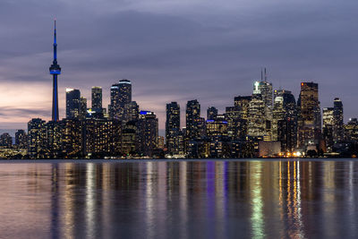
<instances>
[{"instance_id":1,"label":"calm lake water reflecting coloured city lights in vertical streaks","mask_svg":"<svg viewBox=\"0 0 358 239\"><path fill-rule=\"evenodd\" d=\"M358 238L358 161L3 161L0 238Z\"/></svg>"}]
</instances>

